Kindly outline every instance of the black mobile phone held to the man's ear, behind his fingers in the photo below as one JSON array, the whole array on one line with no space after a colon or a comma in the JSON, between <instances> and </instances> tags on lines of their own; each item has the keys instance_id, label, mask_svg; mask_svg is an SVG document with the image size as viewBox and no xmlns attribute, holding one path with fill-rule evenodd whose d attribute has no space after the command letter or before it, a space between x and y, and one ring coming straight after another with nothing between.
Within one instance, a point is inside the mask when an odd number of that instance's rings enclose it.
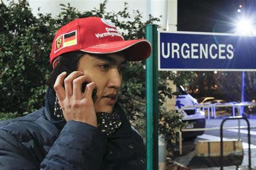
<instances>
[{"instance_id":1,"label":"black mobile phone held to the man's ear, behind his fingers","mask_svg":"<svg viewBox=\"0 0 256 170\"><path fill-rule=\"evenodd\" d=\"M53 86L56 82L57 76L60 75L61 73L63 73L64 71L67 72L67 76L73 72L67 66L63 65L63 63L59 62L57 64L56 68L49 75L49 78L48 78L46 84L49 87L53 88ZM87 84L86 82L82 83L82 88L81 88L82 92L85 91L86 84ZM63 86L64 86L64 84L63 84ZM97 92L96 90L93 90L93 94L92 94L93 100L95 98L96 92Z\"/></svg>"}]
</instances>

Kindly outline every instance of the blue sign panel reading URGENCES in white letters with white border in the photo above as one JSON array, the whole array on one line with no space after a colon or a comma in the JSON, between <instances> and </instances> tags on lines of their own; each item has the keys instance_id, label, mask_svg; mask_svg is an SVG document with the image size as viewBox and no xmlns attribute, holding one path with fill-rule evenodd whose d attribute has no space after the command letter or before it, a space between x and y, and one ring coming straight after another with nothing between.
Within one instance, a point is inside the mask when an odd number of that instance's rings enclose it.
<instances>
[{"instance_id":1,"label":"blue sign panel reading URGENCES in white letters with white border","mask_svg":"<svg viewBox=\"0 0 256 170\"><path fill-rule=\"evenodd\" d=\"M256 71L256 37L159 32L159 70Z\"/></svg>"}]
</instances>

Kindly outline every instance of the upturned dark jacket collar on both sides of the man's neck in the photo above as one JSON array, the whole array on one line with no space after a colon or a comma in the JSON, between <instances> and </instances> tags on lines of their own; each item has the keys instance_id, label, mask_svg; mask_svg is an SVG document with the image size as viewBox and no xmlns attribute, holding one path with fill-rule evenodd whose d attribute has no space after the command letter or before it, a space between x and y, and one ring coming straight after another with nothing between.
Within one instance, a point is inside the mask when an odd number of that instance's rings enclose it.
<instances>
[{"instance_id":1,"label":"upturned dark jacket collar on both sides of the man's neck","mask_svg":"<svg viewBox=\"0 0 256 170\"><path fill-rule=\"evenodd\" d=\"M62 130L67 122L65 120L56 120L55 117L53 116L55 99L56 99L55 91L51 87L48 87L46 92L46 107L44 108L44 112L46 113L47 119L52 124L57 126L59 130ZM124 113L125 111L123 111L120 104L116 104L115 107L116 109L118 109L117 113L121 118L122 125L119 129L117 129L117 131L115 131L112 138L130 137L133 130L131 129L131 124Z\"/></svg>"}]
</instances>

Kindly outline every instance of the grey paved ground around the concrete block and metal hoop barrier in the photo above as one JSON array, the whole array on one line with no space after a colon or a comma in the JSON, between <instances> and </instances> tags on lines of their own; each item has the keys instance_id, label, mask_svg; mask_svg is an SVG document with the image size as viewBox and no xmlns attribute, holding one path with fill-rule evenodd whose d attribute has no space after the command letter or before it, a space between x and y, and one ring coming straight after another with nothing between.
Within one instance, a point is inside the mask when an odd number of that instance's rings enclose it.
<instances>
[{"instance_id":1,"label":"grey paved ground around the concrete block and metal hoop barrier","mask_svg":"<svg viewBox=\"0 0 256 170\"><path fill-rule=\"evenodd\" d=\"M220 127L222 118L210 119L207 120L206 126L207 128ZM249 119L250 126L256 126L256 119ZM225 126L237 126L238 121L228 121L225 123ZM245 121L241 121L241 126L246 126ZM251 165L256 167L256 129L251 129ZM224 131L224 140L226 139L237 139L238 138L238 130L229 129ZM240 131L240 138L243 142L243 156L229 156L224 160L225 167L224 169L248 169L246 168L249 164L248 162L248 148L249 145L247 143L247 130L242 129ZM191 169L220 169L220 158L196 158L195 157L195 146L196 142L199 140L207 140L207 141L220 141L220 131L205 131L205 133L199 137L195 141L185 142L183 141L183 155L177 155L174 160L177 163L185 165ZM236 166L237 165L237 166ZM256 169L256 168L255 168Z\"/></svg>"}]
</instances>

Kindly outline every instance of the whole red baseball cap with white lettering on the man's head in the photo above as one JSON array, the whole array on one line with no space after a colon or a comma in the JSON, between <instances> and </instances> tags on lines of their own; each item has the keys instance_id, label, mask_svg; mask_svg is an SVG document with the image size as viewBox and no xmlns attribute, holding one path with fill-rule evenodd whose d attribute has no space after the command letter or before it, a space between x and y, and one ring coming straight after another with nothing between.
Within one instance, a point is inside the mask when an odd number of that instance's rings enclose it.
<instances>
[{"instance_id":1,"label":"whole red baseball cap with white lettering on the man's head","mask_svg":"<svg viewBox=\"0 0 256 170\"><path fill-rule=\"evenodd\" d=\"M151 54L150 42L124 40L115 25L100 17L75 19L57 31L50 54L51 63L61 54L75 51L107 54L123 51L129 61L143 61Z\"/></svg>"}]
</instances>

